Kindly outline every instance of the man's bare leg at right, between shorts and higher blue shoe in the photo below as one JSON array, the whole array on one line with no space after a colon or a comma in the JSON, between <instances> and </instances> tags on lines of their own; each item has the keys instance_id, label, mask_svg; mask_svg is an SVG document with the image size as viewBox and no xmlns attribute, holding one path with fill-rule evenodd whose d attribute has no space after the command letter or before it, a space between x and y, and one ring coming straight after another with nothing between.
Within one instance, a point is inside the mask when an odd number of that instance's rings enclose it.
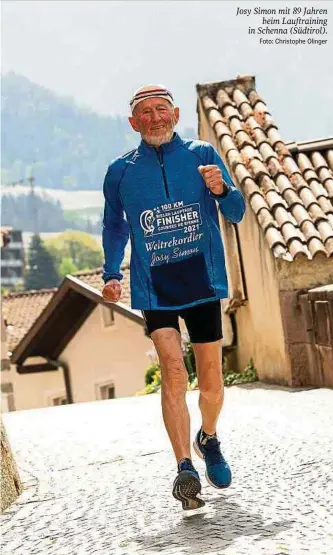
<instances>
[{"instance_id":1,"label":"man's bare leg at right, between shorts and higher blue shoe","mask_svg":"<svg viewBox=\"0 0 333 555\"><path fill-rule=\"evenodd\" d=\"M222 376L222 340L212 343L193 343L200 390L199 408L202 428L211 435L222 410L224 399Z\"/></svg>"}]
</instances>

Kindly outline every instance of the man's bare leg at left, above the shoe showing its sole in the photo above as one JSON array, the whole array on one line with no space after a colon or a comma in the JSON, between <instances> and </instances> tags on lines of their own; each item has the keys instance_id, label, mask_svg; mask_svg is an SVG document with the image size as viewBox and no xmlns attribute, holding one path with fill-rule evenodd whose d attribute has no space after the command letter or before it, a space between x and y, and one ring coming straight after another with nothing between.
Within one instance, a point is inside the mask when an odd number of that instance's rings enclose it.
<instances>
[{"instance_id":1,"label":"man's bare leg at left, above the shoe showing its sole","mask_svg":"<svg viewBox=\"0 0 333 555\"><path fill-rule=\"evenodd\" d=\"M190 415L186 405L188 375L177 330L162 328L151 334L161 365L162 413L177 459L191 458Z\"/></svg>"}]
</instances>

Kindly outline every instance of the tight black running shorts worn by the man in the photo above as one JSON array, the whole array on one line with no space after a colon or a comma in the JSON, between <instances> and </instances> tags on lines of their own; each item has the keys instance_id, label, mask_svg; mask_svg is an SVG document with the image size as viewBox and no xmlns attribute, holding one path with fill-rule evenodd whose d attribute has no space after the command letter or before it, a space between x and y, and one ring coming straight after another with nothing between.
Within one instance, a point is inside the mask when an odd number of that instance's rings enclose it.
<instances>
[{"instance_id":1,"label":"tight black running shorts worn by the man","mask_svg":"<svg viewBox=\"0 0 333 555\"><path fill-rule=\"evenodd\" d=\"M222 338L220 300L182 310L143 310L142 314L148 335L160 328L174 328L180 333L180 317L185 321L191 343L210 343Z\"/></svg>"}]
</instances>

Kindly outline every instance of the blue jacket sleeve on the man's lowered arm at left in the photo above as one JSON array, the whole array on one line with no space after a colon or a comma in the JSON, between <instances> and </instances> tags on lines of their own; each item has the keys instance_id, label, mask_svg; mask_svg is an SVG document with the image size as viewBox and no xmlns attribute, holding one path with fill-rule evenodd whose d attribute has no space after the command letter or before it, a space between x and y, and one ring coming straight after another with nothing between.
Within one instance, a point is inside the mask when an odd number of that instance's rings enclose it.
<instances>
[{"instance_id":1,"label":"blue jacket sleeve on the man's lowered arm at left","mask_svg":"<svg viewBox=\"0 0 333 555\"><path fill-rule=\"evenodd\" d=\"M125 219L124 209L119 195L119 184L123 171L116 164L111 164L106 172L103 194L104 215L102 223L102 244L104 265L102 279L106 283L110 279L123 278L120 271L124 259L125 247L129 239L129 225Z\"/></svg>"}]
</instances>

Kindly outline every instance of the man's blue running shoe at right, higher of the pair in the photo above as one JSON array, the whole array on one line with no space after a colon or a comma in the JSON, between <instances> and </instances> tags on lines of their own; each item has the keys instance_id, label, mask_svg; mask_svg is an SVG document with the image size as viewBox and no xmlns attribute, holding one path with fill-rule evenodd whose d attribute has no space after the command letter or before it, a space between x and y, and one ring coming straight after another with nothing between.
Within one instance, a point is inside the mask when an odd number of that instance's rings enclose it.
<instances>
[{"instance_id":1,"label":"man's blue running shoe at right, higher of the pair","mask_svg":"<svg viewBox=\"0 0 333 555\"><path fill-rule=\"evenodd\" d=\"M193 443L196 454L206 463L206 479L214 488L227 488L231 484L231 470L223 457L220 442L216 435L209 436L202 432L196 435Z\"/></svg>"}]
</instances>

